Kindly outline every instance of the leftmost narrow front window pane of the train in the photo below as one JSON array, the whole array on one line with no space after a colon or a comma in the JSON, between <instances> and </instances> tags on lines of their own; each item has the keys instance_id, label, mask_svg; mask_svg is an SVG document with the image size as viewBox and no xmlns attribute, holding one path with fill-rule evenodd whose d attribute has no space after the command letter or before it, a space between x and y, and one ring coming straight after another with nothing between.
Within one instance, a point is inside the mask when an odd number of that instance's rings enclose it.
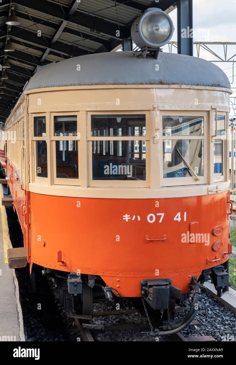
<instances>
[{"instance_id":1,"label":"leftmost narrow front window pane of the train","mask_svg":"<svg viewBox=\"0 0 236 365\"><path fill-rule=\"evenodd\" d=\"M46 116L34 116L33 140L35 151L35 176L40 178L48 177L46 138Z\"/></svg>"}]
</instances>

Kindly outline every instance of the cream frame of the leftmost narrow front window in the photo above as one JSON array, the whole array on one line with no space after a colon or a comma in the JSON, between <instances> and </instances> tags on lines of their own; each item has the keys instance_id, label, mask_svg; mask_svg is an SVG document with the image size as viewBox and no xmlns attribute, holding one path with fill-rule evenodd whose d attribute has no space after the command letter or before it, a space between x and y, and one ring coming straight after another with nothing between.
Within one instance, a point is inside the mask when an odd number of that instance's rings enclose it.
<instances>
[{"instance_id":1,"label":"cream frame of the leftmost narrow front window","mask_svg":"<svg viewBox=\"0 0 236 365\"><path fill-rule=\"evenodd\" d=\"M50 184L50 125L49 125L49 113L48 112L42 112L42 113L32 113L31 115L31 143L32 147L31 151L33 153L33 156L31 158L31 161L33 162L32 171L34 173L32 174L32 177L34 178L35 183L44 183L44 184ZM46 137L34 137L34 118L37 116L45 116L46 120ZM40 177L37 176L37 161L36 161L36 142L37 141L46 141L47 142L47 177Z\"/></svg>"}]
</instances>

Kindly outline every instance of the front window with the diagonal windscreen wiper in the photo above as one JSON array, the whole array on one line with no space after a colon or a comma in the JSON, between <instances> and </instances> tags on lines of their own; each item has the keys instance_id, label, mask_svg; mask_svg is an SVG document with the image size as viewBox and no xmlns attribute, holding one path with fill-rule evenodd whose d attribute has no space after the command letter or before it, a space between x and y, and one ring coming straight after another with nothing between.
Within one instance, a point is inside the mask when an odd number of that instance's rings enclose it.
<instances>
[{"instance_id":1,"label":"front window with the diagonal windscreen wiper","mask_svg":"<svg viewBox=\"0 0 236 365\"><path fill-rule=\"evenodd\" d=\"M206 183L205 130L204 115L162 116L163 186Z\"/></svg>"}]
</instances>

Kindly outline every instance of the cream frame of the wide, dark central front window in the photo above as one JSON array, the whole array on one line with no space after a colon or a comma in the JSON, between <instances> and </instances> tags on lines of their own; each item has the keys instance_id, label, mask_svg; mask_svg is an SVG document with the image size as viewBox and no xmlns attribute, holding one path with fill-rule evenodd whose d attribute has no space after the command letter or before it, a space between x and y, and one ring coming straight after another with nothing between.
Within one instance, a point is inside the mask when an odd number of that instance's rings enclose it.
<instances>
[{"instance_id":1,"label":"cream frame of the wide, dark central front window","mask_svg":"<svg viewBox=\"0 0 236 365\"><path fill-rule=\"evenodd\" d=\"M91 137L91 115L124 115L124 114L143 114L146 118L145 137ZM150 187L150 111L146 110L122 110L122 111L101 111L87 112L88 130L88 186L89 187L130 187L130 188L149 188ZM93 180L93 141L146 141L146 180Z\"/></svg>"}]
</instances>

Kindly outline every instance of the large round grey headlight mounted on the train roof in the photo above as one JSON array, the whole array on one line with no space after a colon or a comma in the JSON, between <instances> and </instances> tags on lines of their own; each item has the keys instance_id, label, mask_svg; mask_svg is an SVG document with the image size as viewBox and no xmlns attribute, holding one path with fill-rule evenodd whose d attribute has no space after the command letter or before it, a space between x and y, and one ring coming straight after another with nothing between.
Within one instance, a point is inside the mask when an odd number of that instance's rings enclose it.
<instances>
[{"instance_id":1,"label":"large round grey headlight mounted on the train roof","mask_svg":"<svg viewBox=\"0 0 236 365\"><path fill-rule=\"evenodd\" d=\"M174 32L173 22L161 9L147 9L131 28L134 43L140 47L158 48L169 42Z\"/></svg>"}]
</instances>

